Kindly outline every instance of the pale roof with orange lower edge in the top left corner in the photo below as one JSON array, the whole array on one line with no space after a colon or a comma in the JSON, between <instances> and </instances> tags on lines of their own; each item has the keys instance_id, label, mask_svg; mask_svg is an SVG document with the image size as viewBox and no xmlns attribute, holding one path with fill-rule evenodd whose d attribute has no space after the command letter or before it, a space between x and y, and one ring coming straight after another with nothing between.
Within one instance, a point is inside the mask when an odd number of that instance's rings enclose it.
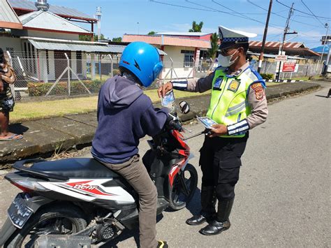
<instances>
[{"instance_id":1,"label":"pale roof with orange lower edge in the top left corner","mask_svg":"<svg viewBox=\"0 0 331 248\"><path fill-rule=\"evenodd\" d=\"M6 29L22 29L22 23L7 0L0 0L0 27Z\"/></svg>"}]
</instances>

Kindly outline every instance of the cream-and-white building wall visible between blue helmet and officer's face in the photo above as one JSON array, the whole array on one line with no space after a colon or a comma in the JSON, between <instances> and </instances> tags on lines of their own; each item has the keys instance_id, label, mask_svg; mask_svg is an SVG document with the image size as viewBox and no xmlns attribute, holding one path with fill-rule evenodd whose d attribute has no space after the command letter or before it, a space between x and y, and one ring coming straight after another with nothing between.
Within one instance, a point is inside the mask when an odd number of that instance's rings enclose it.
<instances>
[{"instance_id":1,"label":"cream-and-white building wall visible between blue helmet and officer's face","mask_svg":"<svg viewBox=\"0 0 331 248\"><path fill-rule=\"evenodd\" d=\"M191 67L184 67L184 53L182 53L182 50L188 50L188 51L195 51L195 48L189 48L189 47L176 47L176 46L165 46L164 52L166 52L168 55L165 55L163 57L163 73L162 78L193 78L192 68ZM172 59L172 63L170 61L170 58ZM171 72L171 68L173 68ZM168 74L168 75L167 75Z\"/></svg>"}]
</instances>

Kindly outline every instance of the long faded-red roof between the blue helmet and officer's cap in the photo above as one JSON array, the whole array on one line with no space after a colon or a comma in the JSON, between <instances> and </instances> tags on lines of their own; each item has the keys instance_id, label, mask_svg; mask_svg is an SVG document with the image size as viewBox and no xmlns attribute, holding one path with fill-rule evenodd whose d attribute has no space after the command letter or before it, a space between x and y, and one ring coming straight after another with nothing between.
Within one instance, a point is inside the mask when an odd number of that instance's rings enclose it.
<instances>
[{"instance_id":1,"label":"long faded-red roof between the blue helmet and officer's cap","mask_svg":"<svg viewBox=\"0 0 331 248\"><path fill-rule=\"evenodd\" d=\"M210 48L210 41L198 40L196 38L181 38L164 35L137 35L124 34L123 42L144 41L153 45L174 45L190 48Z\"/></svg>"}]
</instances>

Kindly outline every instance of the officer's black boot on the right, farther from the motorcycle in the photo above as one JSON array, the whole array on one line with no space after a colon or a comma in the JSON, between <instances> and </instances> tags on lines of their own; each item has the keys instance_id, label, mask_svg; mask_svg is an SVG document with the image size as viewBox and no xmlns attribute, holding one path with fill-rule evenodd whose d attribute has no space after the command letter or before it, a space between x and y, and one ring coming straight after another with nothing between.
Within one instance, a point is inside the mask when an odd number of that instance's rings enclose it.
<instances>
[{"instance_id":1,"label":"officer's black boot on the right, farther from the motorcycle","mask_svg":"<svg viewBox=\"0 0 331 248\"><path fill-rule=\"evenodd\" d=\"M230 228L229 216L233 206L233 200L223 200L219 203L216 220L202 228L199 232L203 235L216 235Z\"/></svg>"}]
</instances>

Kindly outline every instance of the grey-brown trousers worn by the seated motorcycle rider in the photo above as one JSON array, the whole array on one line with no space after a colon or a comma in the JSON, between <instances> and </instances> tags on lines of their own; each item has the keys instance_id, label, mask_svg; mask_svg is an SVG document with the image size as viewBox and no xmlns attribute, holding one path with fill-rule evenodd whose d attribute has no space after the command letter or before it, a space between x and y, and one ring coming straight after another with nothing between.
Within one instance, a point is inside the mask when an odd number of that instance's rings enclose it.
<instances>
[{"instance_id":1,"label":"grey-brown trousers worn by the seated motorcycle rider","mask_svg":"<svg viewBox=\"0 0 331 248\"><path fill-rule=\"evenodd\" d=\"M157 191L139 155L124 163L104 163L122 175L139 194L139 240L141 248L156 248L156 204Z\"/></svg>"}]
</instances>

